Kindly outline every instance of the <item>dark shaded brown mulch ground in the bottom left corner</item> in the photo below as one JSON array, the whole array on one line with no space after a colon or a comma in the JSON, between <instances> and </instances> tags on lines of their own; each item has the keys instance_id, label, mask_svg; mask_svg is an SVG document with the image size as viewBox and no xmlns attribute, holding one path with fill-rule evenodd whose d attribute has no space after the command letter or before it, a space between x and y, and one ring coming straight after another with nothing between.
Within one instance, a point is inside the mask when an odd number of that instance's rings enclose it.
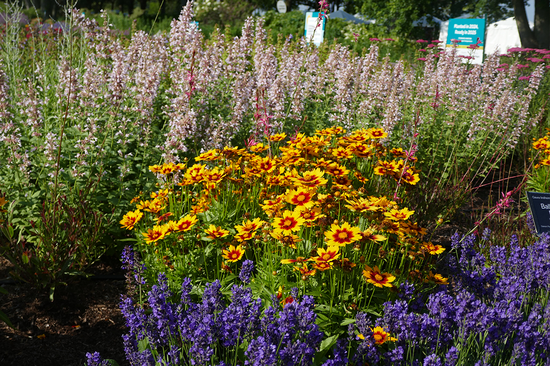
<instances>
[{"instance_id":1,"label":"dark shaded brown mulch ground in the bottom left corner","mask_svg":"<svg viewBox=\"0 0 550 366\"><path fill-rule=\"evenodd\" d=\"M95 275L123 275L120 263L111 259L94 265ZM0 279L9 275L10 263L0 257ZM122 335L125 321L118 308L124 280L77 279L59 286L50 302L45 290L29 285L4 284L0 309L15 329L0 322L0 365L86 364L87 352L100 352L120 366L128 365Z\"/></svg>"}]
</instances>

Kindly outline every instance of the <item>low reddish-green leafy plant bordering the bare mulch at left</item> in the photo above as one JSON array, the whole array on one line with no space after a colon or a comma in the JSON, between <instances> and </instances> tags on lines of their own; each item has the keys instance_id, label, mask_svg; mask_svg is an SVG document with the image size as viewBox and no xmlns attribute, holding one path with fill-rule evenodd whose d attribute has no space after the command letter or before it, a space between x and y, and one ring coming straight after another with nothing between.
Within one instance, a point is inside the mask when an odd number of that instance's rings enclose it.
<instances>
[{"instance_id":1,"label":"low reddish-green leafy plant bordering the bare mulch at left","mask_svg":"<svg viewBox=\"0 0 550 366\"><path fill-rule=\"evenodd\" d=\"M102 239L112 224L92 204L83 190L43 202L38 219L31 221L28 234L32 239L27 241L23 230L14 235L11 221L17 206L12 203L0 241L0 252L15 267L12 276L40 289L49 287L53 300L57 284L70 275L84 274L106 251Z\"/></svg>"}]
</instances>

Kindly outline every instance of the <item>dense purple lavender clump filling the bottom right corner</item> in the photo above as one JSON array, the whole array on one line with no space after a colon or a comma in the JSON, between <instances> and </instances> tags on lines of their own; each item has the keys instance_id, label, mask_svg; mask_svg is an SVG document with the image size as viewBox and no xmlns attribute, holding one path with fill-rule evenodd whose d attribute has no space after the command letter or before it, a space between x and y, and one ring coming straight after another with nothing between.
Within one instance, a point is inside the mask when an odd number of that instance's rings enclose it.
<instances>
[{"instance_id":1,"label":"dense purple lavender clump filling the bottom right corner","mask_svg":"<svg viewBox=\"0 0 550 366\"><path fill-rule=\"evenodd\" d=\"M512 238L508 247L489 248L488 259L475 250L475 236L453 236L452 244L459 257L449 256L452 286L440 287L419 310L404 298L384 304L382 324L398 338L396 345L417 350L406 362L547 362L548 310L543 304L550 290L550 236L526 247ZM481 342L478 351L461 354L459 350L472 350L468 345L474 340Z\"/></svg>"}]
</instances>

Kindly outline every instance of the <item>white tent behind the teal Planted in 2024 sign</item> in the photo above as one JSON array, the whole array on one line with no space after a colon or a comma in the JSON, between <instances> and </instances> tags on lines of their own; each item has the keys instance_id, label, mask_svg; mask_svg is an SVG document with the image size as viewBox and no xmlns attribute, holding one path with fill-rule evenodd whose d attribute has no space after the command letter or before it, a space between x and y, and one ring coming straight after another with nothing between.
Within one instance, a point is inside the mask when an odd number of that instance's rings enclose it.
<instances>
[{"instance_id":1,"label":"white tent behind the teal Planted in 2024 sign","mask_svg":"<svg viewBox=\"0 0 550 366\"><path fill-rule=\"evenodd\" d=\"M529 26L533 27L532 23ZM439 27L439 41L447 42L447 33L449 31L449 21L443 21ZM515 18L511 17L504 20L496 21L487 26L485 33L485 54L492 54L495 52L505 53L508 48L521 47L521 41L519 39L518 25Z\"/></svg>"}]
</instances>

